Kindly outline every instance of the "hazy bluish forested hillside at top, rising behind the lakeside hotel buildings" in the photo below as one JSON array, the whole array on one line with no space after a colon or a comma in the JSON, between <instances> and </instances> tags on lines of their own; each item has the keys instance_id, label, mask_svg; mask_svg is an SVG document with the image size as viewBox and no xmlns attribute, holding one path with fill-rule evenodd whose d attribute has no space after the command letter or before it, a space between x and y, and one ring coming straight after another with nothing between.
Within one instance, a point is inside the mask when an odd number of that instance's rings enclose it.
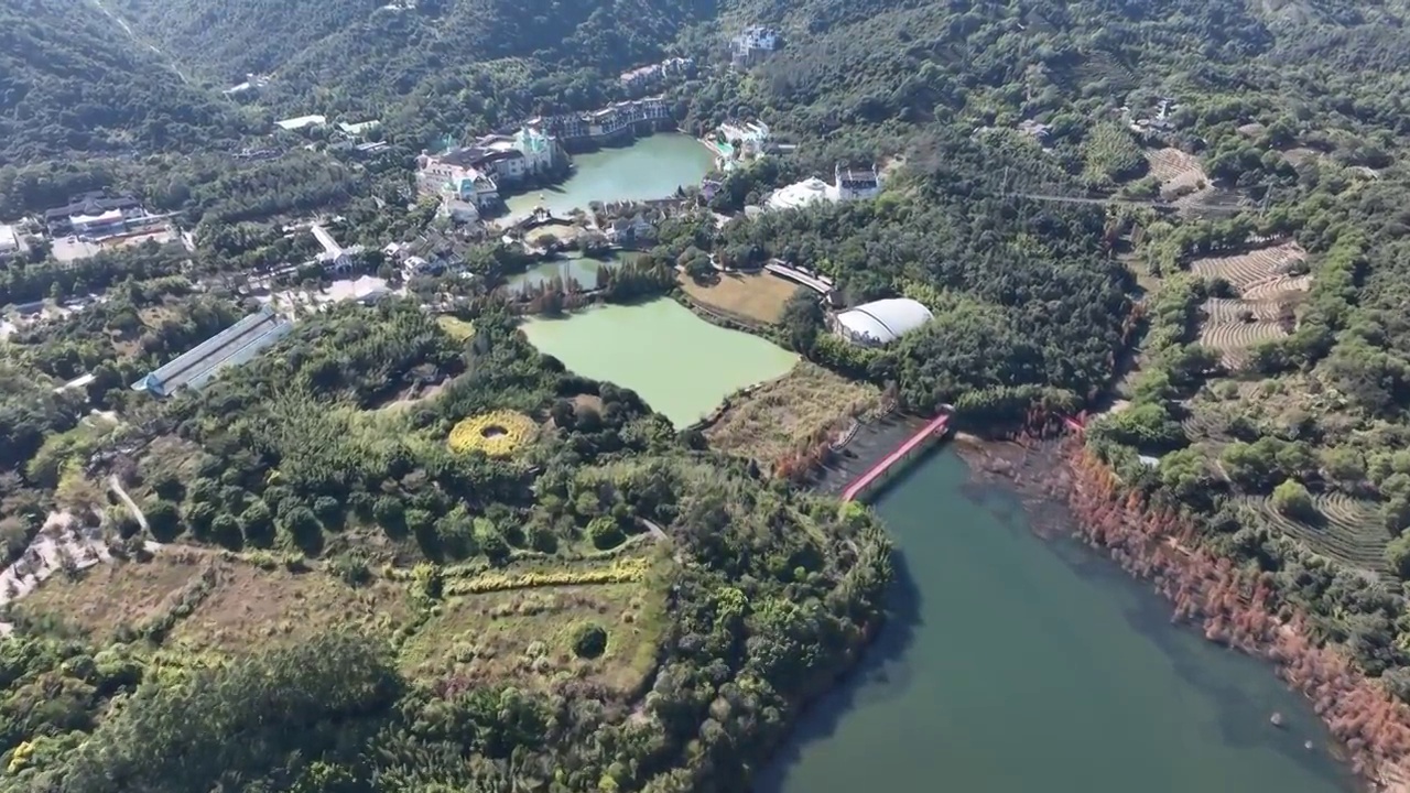
<instances>
[{"instance_id":1,"label":"hazy bluish forested hillside at top, rising behind the lakeside hotel buildings","mask_svg":"<svg viewBox=\"0 0 1410 793\"><path fill-rule=\"evenodd\" d=\"M384 6L113 4L134 30L217 85L238 82L245 72L272 73L262 106L391 114L403 128L427 135L460 134L465 126L484 130L541 107L606 102L606 80L660 59L682 24L716 13L715 0Z\"/></svg>"}]
</instances>

